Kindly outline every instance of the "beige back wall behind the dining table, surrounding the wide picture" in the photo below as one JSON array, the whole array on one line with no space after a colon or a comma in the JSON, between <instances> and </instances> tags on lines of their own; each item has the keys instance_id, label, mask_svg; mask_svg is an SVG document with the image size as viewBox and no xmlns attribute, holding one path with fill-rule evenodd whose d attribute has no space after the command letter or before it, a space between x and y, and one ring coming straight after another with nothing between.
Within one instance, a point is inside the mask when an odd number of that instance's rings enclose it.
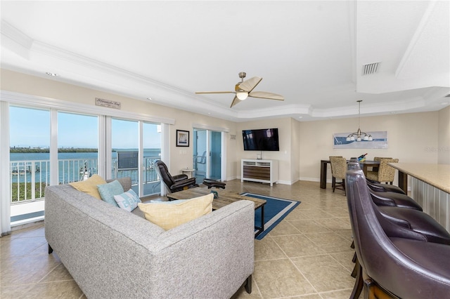
<instances>
[{"instance_id":1,"label":"beige back wall behind the dining table, surrounding the wide picture","mask_svg":"<svg viewBox=\"0 0 450 299\"><path fill-rule=\"evenodd\" d=\"M367 154L373 157L398 158L399 163L437 163L438 112L392 114L381 117L361 117L362 131L387 131L387 149L333 149L333 133L354 132L358 120L330 119L300 124L300 179L319 180L320 160L342 155L349 159ZM331 178L328 167L327 178ZM394 180L397 182L397 178Z\"/></svg>"}]
</instances>

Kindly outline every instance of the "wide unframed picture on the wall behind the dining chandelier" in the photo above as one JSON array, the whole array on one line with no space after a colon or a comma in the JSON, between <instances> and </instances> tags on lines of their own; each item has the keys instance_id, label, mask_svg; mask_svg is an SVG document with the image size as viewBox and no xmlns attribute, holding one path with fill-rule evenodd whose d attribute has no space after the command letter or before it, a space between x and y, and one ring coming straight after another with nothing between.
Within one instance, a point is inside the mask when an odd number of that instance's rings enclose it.
<instances>
[{"instance_id":1,"label":"wide unframed picture on the wall behind the dining chandelier","mask_svg":"<svg viewBox=\"0 0 450 299\"><path fill-rule=\"evenodd\" d=\"M387 131L366 132L372 140L348 140L349 133L334 133L333 148L335 149L387 149Z\"/></svg>"}]
</instances>

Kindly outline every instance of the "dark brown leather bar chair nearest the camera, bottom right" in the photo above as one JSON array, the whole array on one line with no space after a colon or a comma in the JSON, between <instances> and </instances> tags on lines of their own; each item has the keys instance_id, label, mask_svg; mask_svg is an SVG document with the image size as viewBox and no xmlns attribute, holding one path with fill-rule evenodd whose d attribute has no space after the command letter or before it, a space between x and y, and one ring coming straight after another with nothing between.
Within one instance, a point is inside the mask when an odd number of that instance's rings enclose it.
<instances>
[{"instance_id":1,"label":"dark brown leather bar chair nearest the camera, bottom right","mask_svg":"<svg viewBox=\"0 0 450 299\"><path fill-rule=\"evenodd\" d=\"M364 298L375 292L399 298L447 298L450 246L427 241L423 234L377 213L362 171L347 171L345 181Z\"/></svg>"}]
</instances>

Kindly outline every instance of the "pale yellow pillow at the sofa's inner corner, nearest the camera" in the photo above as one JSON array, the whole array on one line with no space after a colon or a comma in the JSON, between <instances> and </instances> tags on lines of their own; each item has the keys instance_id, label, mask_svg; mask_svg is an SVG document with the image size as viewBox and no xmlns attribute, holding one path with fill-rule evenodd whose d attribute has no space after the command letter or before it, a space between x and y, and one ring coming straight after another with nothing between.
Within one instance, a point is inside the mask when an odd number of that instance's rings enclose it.
<instances>
[{"instance_id":1,"label":"pale yellow pillow at the sofa's inner corner, nearest the camera","mask_svg":"<svg viewBox=\"0 0 450 299\"><path fill-rule=\"evenodd\" d=\"M138 204L144 216L164 230L170 230L178 225L211 213L212 193L193 199L180 199L174 201L150 202Z\"/></svg>"}]
</instances>

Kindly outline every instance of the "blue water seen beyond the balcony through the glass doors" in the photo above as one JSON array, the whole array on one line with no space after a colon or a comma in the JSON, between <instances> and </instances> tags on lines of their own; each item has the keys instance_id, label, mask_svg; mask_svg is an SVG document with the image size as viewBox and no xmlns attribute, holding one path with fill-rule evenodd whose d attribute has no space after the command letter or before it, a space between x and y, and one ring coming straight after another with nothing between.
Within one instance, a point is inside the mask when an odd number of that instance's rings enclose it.
<instances>
[{"instance_id":1,"label":"blue water seen beyond the balcony through the glass doors","mask_svg":"<svg viewBox=\"0 0 450 299\"><path fill-rule=\"evenodd\" d=\"M137 152L136 149L117 149L112 153L113 165L116 166L117 152ZM153 161L160 157L160 149L144 149L144 169L150 171ZM10 153L11 182L50 182L50 154L48 152ZM84 175L98 173L98 152L59 152L59 183L64 184L82 179ZM34 171L33 171L34 170ZM85 173L87 172L87 173ZM131 170L113 169L113 177L132 175ZM151 175L147 175L150 178ZM154 175L153 175L154 176Z\"/></svg>"}]
</instances>

